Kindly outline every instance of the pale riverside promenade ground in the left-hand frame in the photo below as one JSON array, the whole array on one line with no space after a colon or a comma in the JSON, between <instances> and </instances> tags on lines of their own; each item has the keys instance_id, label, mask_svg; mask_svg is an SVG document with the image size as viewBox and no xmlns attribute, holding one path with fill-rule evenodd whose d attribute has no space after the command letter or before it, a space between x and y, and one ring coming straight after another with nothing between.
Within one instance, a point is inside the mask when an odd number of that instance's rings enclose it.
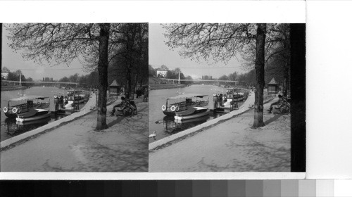
<instances>
[{"instance_id":1,"label":"pale riverside promenade ground in the left-hand frame","mask_svg":"<svg viewBox=\"0 0 352 197\"><path fill-rule=\"evenodd\" d=\"M148 172L148 103L137 115L107 117L94 132L96 111L1 151L2 172ZM108 112L115 101L108 106Z\"/></svg>"}]
</instances>

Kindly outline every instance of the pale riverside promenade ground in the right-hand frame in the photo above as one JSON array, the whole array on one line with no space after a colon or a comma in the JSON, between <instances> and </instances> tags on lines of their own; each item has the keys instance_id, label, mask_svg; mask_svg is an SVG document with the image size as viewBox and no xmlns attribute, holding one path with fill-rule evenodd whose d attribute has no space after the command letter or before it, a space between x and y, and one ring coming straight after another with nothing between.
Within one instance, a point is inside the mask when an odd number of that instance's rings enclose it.
<instances>
[{"instance_id":1,"label":"pale riverside promenade ground in the right-hand frame","mask_svg":"<svg viewBox=\"0 0 352 197\"><path fill-rule=\"evenodd\" d=\"M275 98L270 103L277 101ZM150 172L289 172L291 115L268 114L251 129L254 110L149 153Z\"/></svg>"}]
</instances>

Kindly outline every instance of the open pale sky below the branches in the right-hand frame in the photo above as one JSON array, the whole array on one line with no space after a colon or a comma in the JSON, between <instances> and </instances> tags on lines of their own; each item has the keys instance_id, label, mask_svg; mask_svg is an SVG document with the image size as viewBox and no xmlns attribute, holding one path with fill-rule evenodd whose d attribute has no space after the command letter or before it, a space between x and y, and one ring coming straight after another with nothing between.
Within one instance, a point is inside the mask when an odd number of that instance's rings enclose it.
<instances>
[{"instance_id":1,"label":"open pale sky below the branches in the right-hand frame","mask_svg":"<svg viewBox=\"0 0 352 197\"><path fill-rule=\"evenodd\" d=\"M165 33L161 24L149 23L149 64L153 68L159 68L161 65L166 65L170 70L180 68L184 75L191 75L193 78L201 77L202 75L212 75L213 77L220 77L228 75L234 71L239 73L241 64L236 58L226 64L216 63L208 65L206 62L197 63L187 58L182 58L178 52L170 51L165 44L167 41L163 35Z\"/></svg>"}]
</instances>

